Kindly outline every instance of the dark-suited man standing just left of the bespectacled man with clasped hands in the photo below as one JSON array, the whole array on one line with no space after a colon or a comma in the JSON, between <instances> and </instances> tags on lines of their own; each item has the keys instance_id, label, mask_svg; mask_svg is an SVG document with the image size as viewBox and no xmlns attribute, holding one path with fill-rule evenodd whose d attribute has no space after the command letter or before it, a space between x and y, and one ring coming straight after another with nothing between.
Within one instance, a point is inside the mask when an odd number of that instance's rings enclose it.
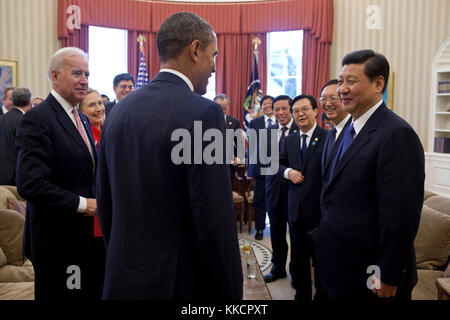
<instances>
[{"instance_id":1,"label":"dark-suited man standing just left of the bespectacled man with clasped hands","mask_svg":"<svg viewBox=\"0 0 450 320\"><path fill-rule=\"evenodd\" d=\"M284 148L284 141L291 133L296 133L298 127L292 118L292 99L281 95L273 100L273 110L277 123L269 127L267 150L271 150L272 134L277 134L278 150ZM270 153L270 152L269 152ZM270 153L270 158L275 161L279 157ZM272 269L264 276L266 282L273 282L280 278L286 278L286 260L288 244L286 241L286 227L288 222L288 181L283 179L283 174L277 171L266 176L266 206L270 219L270 240L272 243Z\"/></svg>"}]
</instances>

